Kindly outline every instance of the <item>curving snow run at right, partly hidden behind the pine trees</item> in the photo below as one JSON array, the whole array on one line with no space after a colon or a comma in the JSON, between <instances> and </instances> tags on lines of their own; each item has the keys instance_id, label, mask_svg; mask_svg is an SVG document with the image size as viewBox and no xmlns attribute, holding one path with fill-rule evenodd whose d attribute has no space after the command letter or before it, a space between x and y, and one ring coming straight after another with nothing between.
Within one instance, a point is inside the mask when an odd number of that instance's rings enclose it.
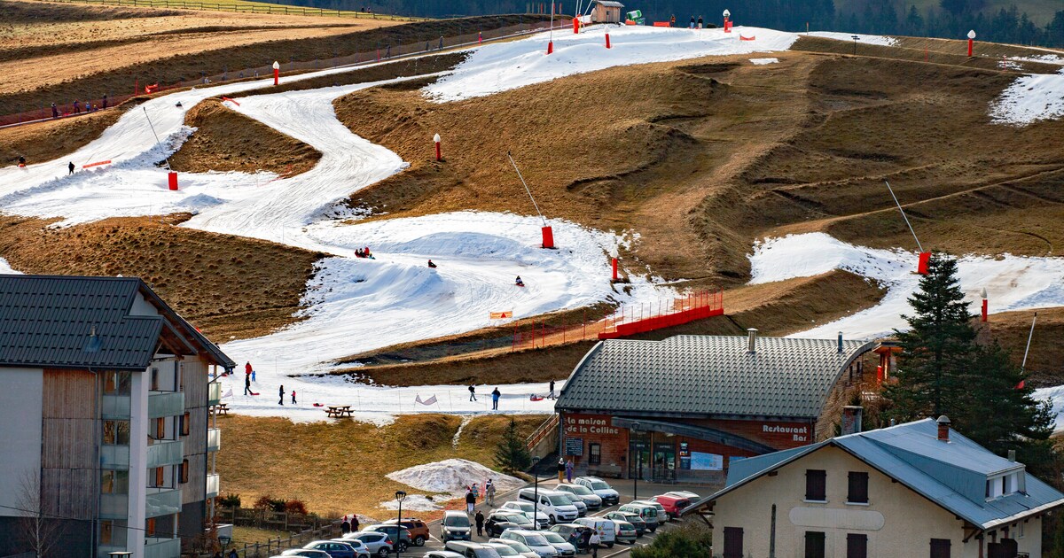
<instances>
[{"instance_id":1,"label":"curving snow run at right, partly hidden behind the pine trees","mask_svg":"<svg viewBox=\"0 0 1064 558\"><path fill-rule=\"evenodd\" d=\"M878 305L791 336L825 339L842 332L848 339L874 339L905 328L901 316L913 314L909 297L919 288L919 275L913 273L917 259L913 252L855 247L824 233L788 235L754 247L751 283L808 277L833 269L876 280L887 289ZM958 260L958 277L972 314L980 311L983 288L992 312L1064 306L1064 258L965 256ZM1064 386L1035 390L1034 396L1051 399L1058 413L1064 410ZM1064 429L1059 415L1057 429Z\"/></svg>"}]
</instances>

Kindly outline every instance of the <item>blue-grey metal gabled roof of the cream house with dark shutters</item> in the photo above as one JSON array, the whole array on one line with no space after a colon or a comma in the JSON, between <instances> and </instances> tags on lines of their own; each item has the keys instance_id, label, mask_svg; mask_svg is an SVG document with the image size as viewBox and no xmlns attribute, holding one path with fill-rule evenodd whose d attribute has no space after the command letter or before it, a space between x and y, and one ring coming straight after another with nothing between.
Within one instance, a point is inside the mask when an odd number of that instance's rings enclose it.
<instances>
[{"instance_id":1,"label":"blue-grey metal gabled roof of the cream house with dark shutters","mask_svg":"<svg viewBox=\"0 0 1064 558\"><path fill-rule=\"evenodd\" d=\"M829 445L849 453L979 528L992 528L1064 505L1064 494L1026 471L1023 473L1025 492L986 500L984 489L988 475L1023 469L1023 464L994 455L955 430L950 430L949 442L941 441L937 425L931 419L839 436L733 462L725 489L696 504L712 502ZM972 487L971 480L976 478L978 487ZM695 507L700 506L692 506L692 509Z\"/></svg>"}]
</instances>

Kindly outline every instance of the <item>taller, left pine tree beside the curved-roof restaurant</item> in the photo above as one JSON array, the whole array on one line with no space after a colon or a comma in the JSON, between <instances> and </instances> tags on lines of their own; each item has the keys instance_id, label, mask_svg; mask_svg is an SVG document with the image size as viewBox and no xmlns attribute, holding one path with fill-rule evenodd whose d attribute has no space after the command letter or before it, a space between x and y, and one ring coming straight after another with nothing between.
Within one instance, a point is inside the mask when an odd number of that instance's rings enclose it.
<instances>
[{"instance_id":1,"label":"taller, left pine tree beside the curved-roof restaurant","mask_svg":"<svg viewBox=\"0 0 1064 558\"><path fill-rule=\"evenodd\" d=\"M916 310L915 316L902 316L909 331L895 331L902 353L897 383L885 390L894 403L891 415L901 420L958 415L957 405L968 389L965 376L976 350L976 331L957 280L957 260L932 254L920 289L909 304Z\"/></svg>"}]
</instances>

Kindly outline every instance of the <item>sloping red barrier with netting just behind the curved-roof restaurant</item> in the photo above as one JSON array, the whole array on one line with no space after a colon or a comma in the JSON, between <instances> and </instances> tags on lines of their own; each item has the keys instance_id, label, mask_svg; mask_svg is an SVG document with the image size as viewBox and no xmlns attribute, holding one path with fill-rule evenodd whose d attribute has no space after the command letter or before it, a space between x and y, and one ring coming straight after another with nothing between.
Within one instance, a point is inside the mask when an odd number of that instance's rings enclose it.
<instances>
[{"instance_id":1,"label":"sloping red barrier with netting just behind the curved-roof restaurant","mask_svg":"<svg viewBox=\"0 0 1064 558\"><path fill-rule=\"evenodd\" d=\"M664 309L661 303L653 308L652 303L638 306L621 306L611 317L606 318L605 327L598 334L599 339L616 339L629 335L642 334L671 327L725 312L724 292L702 291L675 299Z\"/></svg>"}]
</instances>

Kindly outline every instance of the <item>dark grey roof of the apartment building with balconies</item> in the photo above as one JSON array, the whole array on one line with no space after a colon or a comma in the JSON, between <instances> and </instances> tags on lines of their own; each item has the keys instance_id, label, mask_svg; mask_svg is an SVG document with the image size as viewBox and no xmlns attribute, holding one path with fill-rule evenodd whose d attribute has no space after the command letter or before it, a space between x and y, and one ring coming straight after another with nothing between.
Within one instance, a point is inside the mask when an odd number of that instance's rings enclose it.
<instances>
[{"instance_id":1,"label":"dark grey roof of the apartment building with balconies","mask_svg":"<svg viewBox=\"0 0 1064 558\"><path fill-rule=\"evenodd\" d=\"M131 316L137 293L162 316ZM235 367L137 277L0 274L0 366L143 370L161 344Z\"/></svg>"}]
</instances>

